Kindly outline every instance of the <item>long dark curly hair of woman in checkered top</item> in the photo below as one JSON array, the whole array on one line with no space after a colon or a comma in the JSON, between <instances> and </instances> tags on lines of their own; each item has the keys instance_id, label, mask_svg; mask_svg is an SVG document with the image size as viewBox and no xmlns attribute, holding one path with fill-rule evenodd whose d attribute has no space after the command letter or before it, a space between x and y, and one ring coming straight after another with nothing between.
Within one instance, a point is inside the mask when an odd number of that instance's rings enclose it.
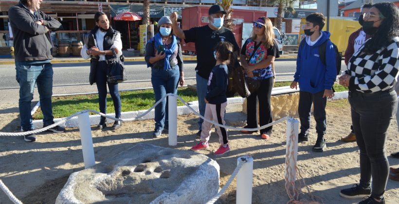
<instances>
[{"instance_id":1,"label":"long dark curly hair of woman in checkered top","mask_svg":"<svg viewBox=\"0 0 399 204\"><path fill-rule=\"evenodd\" d=\"M376 7L383 19L377 32L364 44L364 52L375 53L381 46L388 46L392 39L399 35L399 9L394 3L382 2L373 5Z\"/></svg>"}]
</instances>

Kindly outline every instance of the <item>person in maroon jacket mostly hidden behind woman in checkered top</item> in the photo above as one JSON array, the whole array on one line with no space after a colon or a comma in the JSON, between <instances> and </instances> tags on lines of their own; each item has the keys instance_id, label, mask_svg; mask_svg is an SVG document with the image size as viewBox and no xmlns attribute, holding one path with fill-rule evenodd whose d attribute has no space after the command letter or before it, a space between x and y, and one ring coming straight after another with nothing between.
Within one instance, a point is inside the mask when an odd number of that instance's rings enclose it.
<instances>
[{"instance_id":1,"label":"person in maroon jacket mostly hidden behind woman in checkered top","mask_svg":"<svg viewBox=\"0 0 399 204\"><path fill-rule=\"evenodd\" d=\"M363 14L367 13L370 8L373 7L372 3L364 4L362 8L362 14L359 16L359 23L360 25L363 25ZM353 32L349 36L348 40L348 46L346 47L345 51L345 64L346 66L348 65L349 59L352 57L352 55L358 51L364 42L370 38L371 35L365 34L363 31L363 27L360 28L359 30ZM356 135L355 132L353 131L353 126L350 126L351 132L349 133L348 136L341 137L341 141L344 142L353 142L356 141Z\"/></svg>"}]
</instances>

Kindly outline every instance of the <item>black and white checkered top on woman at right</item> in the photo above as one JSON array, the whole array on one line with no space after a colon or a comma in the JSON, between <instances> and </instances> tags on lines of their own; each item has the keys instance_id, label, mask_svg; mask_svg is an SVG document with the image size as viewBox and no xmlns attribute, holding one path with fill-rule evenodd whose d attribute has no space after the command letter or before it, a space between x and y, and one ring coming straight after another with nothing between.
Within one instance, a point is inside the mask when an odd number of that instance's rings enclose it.
<instances>
[{"instance_id":1,"label":"black and white checkered top on woman at right","mask_svg":"<svg viewBox=\"0 0 399 204\"><path fill-rule=\"evenodd\" d=\"M388 90L399 74L399 37L371 55L361 54L363 48L364 45L349 60L347 74L355 77L349 86L363 93Z\"/></svg>"}]
</instances>

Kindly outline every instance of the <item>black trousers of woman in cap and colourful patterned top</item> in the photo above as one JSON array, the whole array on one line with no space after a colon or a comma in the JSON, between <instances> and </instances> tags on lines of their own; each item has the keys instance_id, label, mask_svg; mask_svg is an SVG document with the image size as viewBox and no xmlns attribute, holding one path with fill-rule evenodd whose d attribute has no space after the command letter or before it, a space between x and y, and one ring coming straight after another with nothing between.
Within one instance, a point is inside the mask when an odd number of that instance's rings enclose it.
<instances>
[{"instance_id":1,"label":"black trousers of woman in cap and colourful patterned top","mask_svg":"<svg viewBox=\"0 0 399 204\"><path fill-rule=\"evenodd\" d=\"M263 126L273 121L272 106L270 105L270 98L272 96L273 78L269 77L260 82L258 91L251 93L247 98L247 128L257 127L256 117L256 97L259 102L259 125ZM260 134L272 133L272 126L260 130Z\"/></svg>"}]
</instances>

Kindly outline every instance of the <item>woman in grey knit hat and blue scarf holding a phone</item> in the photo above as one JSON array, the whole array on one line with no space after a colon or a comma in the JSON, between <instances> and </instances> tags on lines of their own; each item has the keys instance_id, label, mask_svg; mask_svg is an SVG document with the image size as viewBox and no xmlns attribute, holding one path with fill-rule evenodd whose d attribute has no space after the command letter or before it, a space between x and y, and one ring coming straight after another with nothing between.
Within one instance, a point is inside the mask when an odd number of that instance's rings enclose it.
<instances>
[{"instance_id":1,"label":"woman in grey knit hat and blue scarf holding a phone","mask_svg":"<svg viewBox=\"0 0 399 204\"><path fill-rule=\"evenodd\" d=\"M145 46L145 62L151 68L151 84L155 101L168 93L177 93L184 85L183 57L179 40L173 34L172 21L162 17L158 21L159 32ZM168 127L167 99L155 107L155 129L153 136L161 136Z\"/></svg>"}]
</instances>

